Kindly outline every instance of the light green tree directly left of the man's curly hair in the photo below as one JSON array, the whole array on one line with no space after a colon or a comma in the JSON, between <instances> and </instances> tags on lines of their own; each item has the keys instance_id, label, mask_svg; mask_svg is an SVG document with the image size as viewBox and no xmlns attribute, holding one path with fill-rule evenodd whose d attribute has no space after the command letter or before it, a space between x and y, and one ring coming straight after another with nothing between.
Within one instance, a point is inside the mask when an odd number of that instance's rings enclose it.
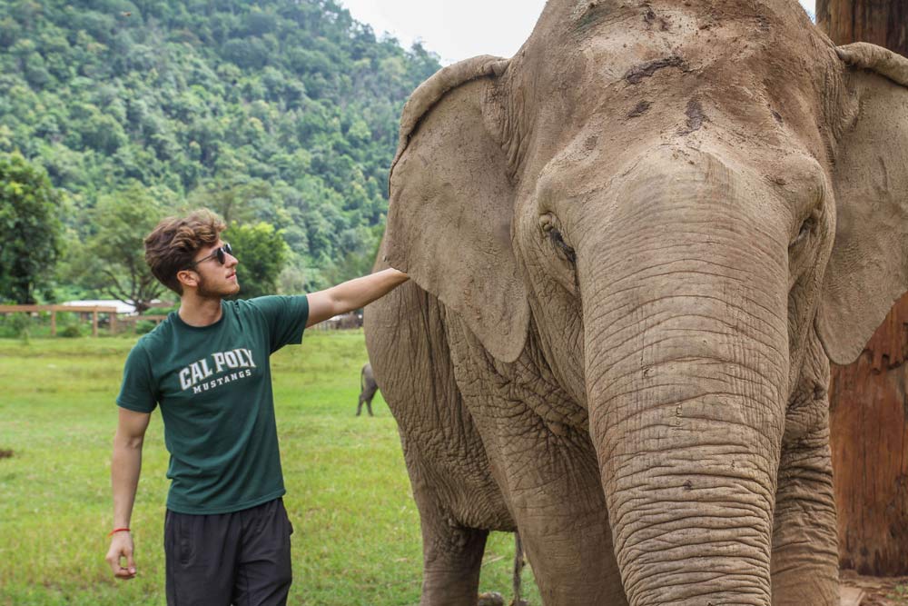
<instances>
[{"instance_id":1,"label":"light green tree directly left of the man's curly hair","mask_svg":"<svg viewBox=\"0 0 908 606\"><path fill-rule=\"evenodd\" d=\"M164 206L139 185L104 196L94 209L97 232L84 247L82 281L142 313L164 287L145 263L143 240Z\"/></svg>"}]
</instances>

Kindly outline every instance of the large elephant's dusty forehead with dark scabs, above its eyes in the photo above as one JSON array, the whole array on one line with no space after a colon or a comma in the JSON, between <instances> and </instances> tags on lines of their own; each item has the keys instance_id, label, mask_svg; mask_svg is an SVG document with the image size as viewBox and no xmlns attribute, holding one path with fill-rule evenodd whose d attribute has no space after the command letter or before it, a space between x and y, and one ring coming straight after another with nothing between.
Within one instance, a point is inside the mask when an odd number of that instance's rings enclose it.
<instances>
[{"instance_id":1,"label":"large elephant's dusty forehead with dark scabs, above its eyes","mask_svg":"<svg viewBox=\"0 0 908 606\"><path fill-rule=\"evenodd\" d=\"M701 128L825 154L816 125L837 62L794 0L549 2L516 61L512 113L531 118L511 124L535 133L528 174L572 145L613 154Z\"/></svg>"}]
</instances>

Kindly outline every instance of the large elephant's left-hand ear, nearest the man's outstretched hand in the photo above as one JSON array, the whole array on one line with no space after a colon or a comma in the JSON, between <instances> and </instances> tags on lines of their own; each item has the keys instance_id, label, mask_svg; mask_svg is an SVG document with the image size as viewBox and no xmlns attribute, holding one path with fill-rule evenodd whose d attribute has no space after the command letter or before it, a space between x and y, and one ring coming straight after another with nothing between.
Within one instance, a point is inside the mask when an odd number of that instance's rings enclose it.
<instances>
[{"instance_id":1,"label":"large elephant's left-hand ear, nearest the man's outstretched hand","mask_svg":"<svg viewBox=\"0 0 908 606\"><path fill-rule=\"evenodd\" d=\"M497 126L496 84L507 67L475 57L441 69L410 96L391 164L384 260L458 313L489 353L512 362L526 340L529 304Z\"/></svg>"}]
</instances>

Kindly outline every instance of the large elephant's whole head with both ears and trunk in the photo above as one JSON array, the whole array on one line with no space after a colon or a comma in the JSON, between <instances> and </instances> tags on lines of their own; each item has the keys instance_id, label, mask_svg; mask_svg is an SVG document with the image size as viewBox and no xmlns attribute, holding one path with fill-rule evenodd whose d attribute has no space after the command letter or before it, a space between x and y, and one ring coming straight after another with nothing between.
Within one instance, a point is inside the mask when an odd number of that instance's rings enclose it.
<instances>
[{"instance_id":1,"label":"large elephant's whole head with both ears and trunk","mask_svg":"<svg viewBox=\"0 0 908 606\"><path fill-rule=\"evenodd\" d=\"M411 96L386 260L587 409L631 603L770 601L793 407L908 290L906 86L795 0L550 0Z\"/></svg>"}]
</instances>

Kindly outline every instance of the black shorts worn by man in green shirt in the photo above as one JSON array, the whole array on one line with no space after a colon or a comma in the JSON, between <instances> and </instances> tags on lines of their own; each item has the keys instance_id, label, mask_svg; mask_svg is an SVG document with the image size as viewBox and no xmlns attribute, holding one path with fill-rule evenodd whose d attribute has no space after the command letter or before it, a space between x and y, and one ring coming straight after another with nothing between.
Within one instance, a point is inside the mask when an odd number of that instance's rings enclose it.
<instances>
[{"instance_id":1,"label":"black shorts worn by man in green shirt","mask_svg":"<svg viewBox=\"0 0 908 606\"><path fill-rule=\"evenodd\" d=\"M167 510L168 606L283 606L292 532L281 499L232 513Z\"/></svg>"}]
</instances>

